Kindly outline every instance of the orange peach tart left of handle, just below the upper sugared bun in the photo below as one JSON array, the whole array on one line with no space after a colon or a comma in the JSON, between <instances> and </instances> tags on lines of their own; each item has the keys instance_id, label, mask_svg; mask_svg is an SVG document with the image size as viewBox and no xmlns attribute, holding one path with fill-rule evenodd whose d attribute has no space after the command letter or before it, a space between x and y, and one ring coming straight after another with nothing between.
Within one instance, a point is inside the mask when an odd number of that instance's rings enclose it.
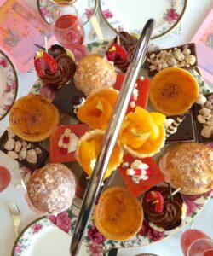
<instances>
[{"instance_id":1,"label":"orange peach tart left of handle, just below the upper sugared bun","mask_svg":"<svg viewBox=\"0 0 213 256\"><path fill-rule=\"evenodd\" d=\"M105 130L117 101L118 93L118 90L112 88L94 90L86 98L83 106L78 108L78 119L93 129Z\"/></svg>"}]
</instances>

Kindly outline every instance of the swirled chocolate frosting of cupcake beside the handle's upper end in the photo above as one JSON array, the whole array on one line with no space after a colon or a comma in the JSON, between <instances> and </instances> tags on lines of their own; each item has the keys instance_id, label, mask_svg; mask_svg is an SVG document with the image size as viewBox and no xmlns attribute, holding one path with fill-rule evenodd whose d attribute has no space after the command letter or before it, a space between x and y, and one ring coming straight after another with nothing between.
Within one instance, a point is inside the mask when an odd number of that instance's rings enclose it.
<instances>
[{"instance_id":1,"label":"swirled chocolate frosting of cupcake beside the handle's upper end","mask_svg":"<svg viewBox=\"0 0 213 256\"><path fill-rule=\"evenodd\" d=\"M127 53L128 53L128 58L127 60L123 61L123 60L115 60L114 64L116 67L118 67L120 69L120 71L122 71L123 73L125 73L127 71L127 67L130 64L130 60L131 57L133 55L135 46L137 44L137 38L131 36L128 32L120 32L124 38L126 38L128 40L128 42L124 41L122 38L120 38L120 45L124 47L124 49L126 49ZM114 39L114 44L117 43L117 38Z\"/></svg>"}]
</instances>

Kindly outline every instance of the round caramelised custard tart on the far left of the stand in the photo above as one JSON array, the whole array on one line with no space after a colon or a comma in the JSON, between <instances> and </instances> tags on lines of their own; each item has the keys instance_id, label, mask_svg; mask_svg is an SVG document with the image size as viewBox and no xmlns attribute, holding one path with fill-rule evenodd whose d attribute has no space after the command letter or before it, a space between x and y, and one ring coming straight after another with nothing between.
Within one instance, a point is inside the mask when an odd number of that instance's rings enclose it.
<instances>
[{"instance_id":1,"label":"round caramelised custard tart on the far left of the stand","mask_svg":"<svg viewBox=\"0 0 213 256\"><path fill-rule=\"evenodd\" d=\"M14 134L29 142L49 137L59 120L58 109L48 98L32 94L14 102L9 113L9 125Z\"/></svg>"}]
</instances>

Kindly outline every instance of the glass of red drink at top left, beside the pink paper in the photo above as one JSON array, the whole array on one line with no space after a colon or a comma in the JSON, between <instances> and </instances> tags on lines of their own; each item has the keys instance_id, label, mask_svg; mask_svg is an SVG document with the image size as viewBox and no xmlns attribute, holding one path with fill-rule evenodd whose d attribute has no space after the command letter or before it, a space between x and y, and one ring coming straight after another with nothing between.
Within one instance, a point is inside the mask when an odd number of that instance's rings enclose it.
<instances>
[{"instance_id":1,"label":"glass of red drink at top left, beside the pink paper","mask_svg":"<svg viewBox=\"0 0 213 256\"><path fill-rule=\"evenodd\" d=\"M53 26L55 38L63 47L73 51L83 44L83 24L72 3L55 3L49 11L49 20Z\"/></svg>"}]
</instances>

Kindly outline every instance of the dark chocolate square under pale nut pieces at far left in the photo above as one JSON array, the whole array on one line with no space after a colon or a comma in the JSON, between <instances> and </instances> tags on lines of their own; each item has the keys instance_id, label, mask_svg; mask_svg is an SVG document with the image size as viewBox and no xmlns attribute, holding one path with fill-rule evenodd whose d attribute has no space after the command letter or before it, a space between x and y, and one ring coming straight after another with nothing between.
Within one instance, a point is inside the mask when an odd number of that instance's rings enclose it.
<instances>
[{"instance_id":1,"label":"dark chocolate square under pale nut pieces at far left","mask_svg":"<svg viewBox=\"0 0 213 256\"><path fill-rule=\"evenodd\" d=\"M3 153L5 153L5 154L8 154L8 152L9 152L7 149L4 148L4 145L8 141L8 138L9 138L8 137L8 131L4 131L3 132L3 136L0 137L0 150L2 150ZM23 141L18 136L15 136L14 140L15 141L20 141L20 142ZM49 156L49 152L46 149L42 148L38 143L32 143L32 142L26 142L26 143L31 143L32 144L32 148L29 148L29 149L40 148L42 153L41 154L37 154L37 163L36 164L29 163L27 160L19 160L19 159L17 159L17 161L21 165L26 166L26 167L30 168L31 170L35 170L37 168L41 168L42 166L44 166L45 160Z\"/></svg>"}]
</instances>

